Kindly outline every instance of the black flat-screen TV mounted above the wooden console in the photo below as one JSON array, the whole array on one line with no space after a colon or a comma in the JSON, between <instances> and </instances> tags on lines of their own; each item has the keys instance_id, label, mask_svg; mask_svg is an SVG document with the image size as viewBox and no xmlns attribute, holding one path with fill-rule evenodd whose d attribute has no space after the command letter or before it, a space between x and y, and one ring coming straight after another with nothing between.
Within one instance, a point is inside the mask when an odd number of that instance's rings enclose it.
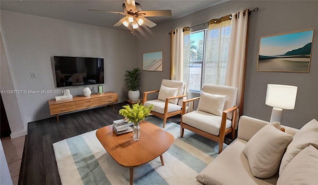
<instances>
[{"instance_id":1,"label":"black flat-screen TV mounted above the wooden console","mask_svg":"<svg viewBox=\"0 0 318 185\"><path fill-rule=\"evenodd\" d=\"M56 87L104 83L104 59L54 56Z\"/></svg>"}]
</instances>

